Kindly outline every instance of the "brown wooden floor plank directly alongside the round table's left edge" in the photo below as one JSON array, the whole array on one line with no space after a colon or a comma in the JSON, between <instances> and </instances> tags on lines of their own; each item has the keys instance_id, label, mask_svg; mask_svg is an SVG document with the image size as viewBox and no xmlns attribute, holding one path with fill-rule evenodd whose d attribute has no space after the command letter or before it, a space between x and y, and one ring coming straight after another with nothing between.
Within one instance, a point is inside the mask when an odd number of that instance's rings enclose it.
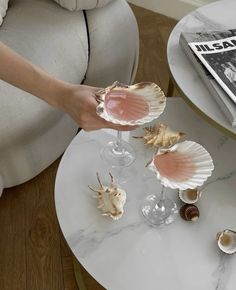
<instances>
[{"instance_id":1,"label":"brown wooden floor plank directly alongside the round table's left edge","mask_svg":"<svg viewBox=\"0 0 236 290\"><path fill-rule=\"evenodd\" d=\"M27 289L64 289L59 226L54 208L58 162L27 183Z\"/></svg>"}]
</instances>

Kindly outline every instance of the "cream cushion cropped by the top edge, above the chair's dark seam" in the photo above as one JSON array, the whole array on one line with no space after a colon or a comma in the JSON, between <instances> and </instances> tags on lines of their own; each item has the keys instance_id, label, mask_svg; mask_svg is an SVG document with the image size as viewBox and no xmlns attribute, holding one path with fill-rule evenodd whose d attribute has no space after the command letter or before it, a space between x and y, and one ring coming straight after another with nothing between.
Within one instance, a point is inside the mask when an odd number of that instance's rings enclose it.
<instances>
[{"instance_id":1,"label":"cream cushion cropped by the top edge, above the chair's dark seam","mask_svg":"<svg viewBox=\"0 0 236 290\"><path fill-rule=\"evenodd\" d=\"M54 0L62 7L70 10L86 10L105 6L112 0Z\"/></svg>"}]
</instances>

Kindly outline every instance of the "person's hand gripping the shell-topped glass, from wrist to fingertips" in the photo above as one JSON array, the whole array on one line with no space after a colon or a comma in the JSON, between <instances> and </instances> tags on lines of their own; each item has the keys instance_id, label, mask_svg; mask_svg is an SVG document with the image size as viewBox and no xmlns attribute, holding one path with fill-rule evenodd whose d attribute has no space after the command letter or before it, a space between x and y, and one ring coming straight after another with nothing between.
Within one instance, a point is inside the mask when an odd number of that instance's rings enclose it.
<instances>
[{"instance_id":1,"label":"person's hand gripping the shell-topped glass, from wrist to fingertips","mask_svg":"<svg viewBox=\"0 0 236 290\"><path fill-rule=\"evenodd\" d=\"M68 113L85 131L111 128L120 131L130 131L136 126L121 126L99 117L96 113L98 102L96 92L101 88L85 85L71 85L66 88L58 102L59 109Z\"/></svg>"}]
</instances>

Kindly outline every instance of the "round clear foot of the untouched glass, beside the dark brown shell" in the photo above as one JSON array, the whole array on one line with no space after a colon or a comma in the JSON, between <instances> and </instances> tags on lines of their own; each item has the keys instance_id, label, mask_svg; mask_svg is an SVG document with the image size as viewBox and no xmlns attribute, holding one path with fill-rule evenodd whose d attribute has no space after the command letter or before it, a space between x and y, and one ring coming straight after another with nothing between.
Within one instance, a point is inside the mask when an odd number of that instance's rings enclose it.
<instances>
[{"instance_id":1,"label":"round clear foot of the untouched glass, beside the dark brown shell","mask_svg":"<svg viewBox=\"0 0 236 290\"><path fill-rule=\"evenodd\" d=\"M145 220L152 226L171 224L178 213L173 200L165 198L164 208L158 205L159 201L160 199L156 195L149 195L141 207Z\"/></svg>"}]
</instances>

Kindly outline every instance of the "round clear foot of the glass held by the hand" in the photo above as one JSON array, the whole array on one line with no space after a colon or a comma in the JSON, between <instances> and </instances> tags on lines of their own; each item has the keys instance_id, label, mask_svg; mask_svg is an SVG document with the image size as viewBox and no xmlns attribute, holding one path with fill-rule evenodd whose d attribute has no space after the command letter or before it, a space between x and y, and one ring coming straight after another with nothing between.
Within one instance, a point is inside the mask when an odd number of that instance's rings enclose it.
<instances>
[{"instance_id":1,"label":"round clear foot of the glass held by the hand","mask_svg":"<svg viewBox=\"0 0 236 290\"><path fill-rule=\"evenodd\" d=\"M102 158L111 166L129 166L135 160L133 147L122 141L122 150L118 150L116 142L109 142L102 150Z\"/></svg>"}]
</instances>

